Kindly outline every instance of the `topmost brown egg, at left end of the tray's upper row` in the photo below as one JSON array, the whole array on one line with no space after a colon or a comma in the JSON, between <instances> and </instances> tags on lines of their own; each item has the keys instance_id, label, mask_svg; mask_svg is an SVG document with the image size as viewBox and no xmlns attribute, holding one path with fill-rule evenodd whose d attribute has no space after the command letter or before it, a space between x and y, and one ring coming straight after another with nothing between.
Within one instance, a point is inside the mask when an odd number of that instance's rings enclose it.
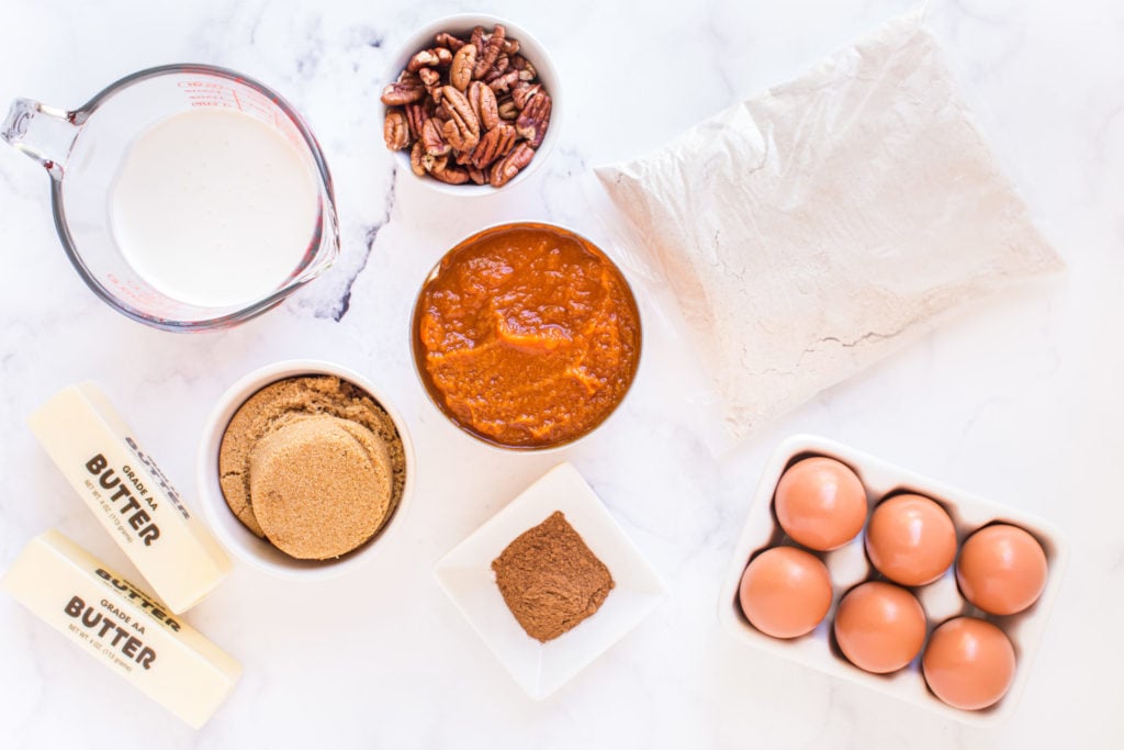
<instances>
[{"instance_id":1,"label":"topmost brown egg, at left end of the tray's upper row","mask_svg":"<svg viewBox=\"0 0 1124 750\"><path fill-rule=\"evenodd\" d=\"M813 550L843 546L867 521L867 490L834 459L816 457L791 467L777 482L774 507L785 533Z\"/></svg>"}]
</instances>

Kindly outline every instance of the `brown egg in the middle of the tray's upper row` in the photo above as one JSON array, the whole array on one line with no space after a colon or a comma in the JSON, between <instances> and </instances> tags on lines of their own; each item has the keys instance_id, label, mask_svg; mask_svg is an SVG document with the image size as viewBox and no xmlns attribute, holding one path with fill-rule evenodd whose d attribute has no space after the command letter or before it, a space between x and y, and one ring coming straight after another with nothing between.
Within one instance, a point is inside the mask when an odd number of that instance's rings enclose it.
<instances>
[{"instance_id":1,"label":"brown egg in the middle of the tray's upper row","mask_svg":"<svg viewBox=\"0 0 1124 750\"><path fill-rule=\"evenodd\" d=\"M870 515L867 554L897 584L932 584L957 557L957 528L944 508L927 497L895 495Z\"/></svg>"}]
</instances>

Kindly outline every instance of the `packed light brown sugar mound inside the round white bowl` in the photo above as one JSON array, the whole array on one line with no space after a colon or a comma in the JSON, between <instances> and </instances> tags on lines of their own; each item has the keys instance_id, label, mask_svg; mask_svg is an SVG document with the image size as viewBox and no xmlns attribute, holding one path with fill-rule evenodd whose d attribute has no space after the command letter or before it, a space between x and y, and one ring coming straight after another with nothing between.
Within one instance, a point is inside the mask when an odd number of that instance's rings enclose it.
<instances>
[{"instance_id":1,"label":"packed light brown sugar mound inside the round white bowl","mask_svg":"<svg viewBox=\"0 0 1124 750\"><path fill-rule=\"evenodd\" d=\"M262 388L232 417L219 448L230 510L300 559L336 558L374 536L405 480L393 421L366 391L332 376Z\"/></svg>"}]
</instances>

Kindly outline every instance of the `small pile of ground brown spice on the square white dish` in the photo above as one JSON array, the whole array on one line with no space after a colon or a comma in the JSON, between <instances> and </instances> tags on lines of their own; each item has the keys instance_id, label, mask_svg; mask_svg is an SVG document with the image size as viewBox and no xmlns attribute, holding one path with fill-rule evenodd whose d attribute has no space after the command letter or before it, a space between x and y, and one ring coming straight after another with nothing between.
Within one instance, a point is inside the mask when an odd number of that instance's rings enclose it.
<instances>
[{"instance_id":1,"label":"small pile of ground brown spice on the square white dish","mask_svg":"<svg viewBox=\"0 0 1124 750\"><path fill-rule=\"evenodd\" d=\"M519 534L491 567L511 614L543 643L597 612L614 587L609 569L559 510Z\"/></svg>"}]
</instances>

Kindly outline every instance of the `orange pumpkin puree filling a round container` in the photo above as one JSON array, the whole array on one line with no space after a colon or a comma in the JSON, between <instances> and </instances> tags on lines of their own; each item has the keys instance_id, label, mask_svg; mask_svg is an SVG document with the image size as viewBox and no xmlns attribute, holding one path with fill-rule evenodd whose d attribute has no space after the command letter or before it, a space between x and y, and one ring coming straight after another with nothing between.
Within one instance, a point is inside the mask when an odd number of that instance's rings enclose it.
<instances>
[{"instance_id":1,"label":"orange pumpkin puree filling a round container","mask_svg":"<svg viewBox=\"0 0 1124 750\"><path fill-rule=\"evenodd\" d=\"M559 227L487 229L451 250L414 310L414 352L457 425L509 448L575 440L624 398L636 300L596 246Z\"/></svg>"}]
</instances>

